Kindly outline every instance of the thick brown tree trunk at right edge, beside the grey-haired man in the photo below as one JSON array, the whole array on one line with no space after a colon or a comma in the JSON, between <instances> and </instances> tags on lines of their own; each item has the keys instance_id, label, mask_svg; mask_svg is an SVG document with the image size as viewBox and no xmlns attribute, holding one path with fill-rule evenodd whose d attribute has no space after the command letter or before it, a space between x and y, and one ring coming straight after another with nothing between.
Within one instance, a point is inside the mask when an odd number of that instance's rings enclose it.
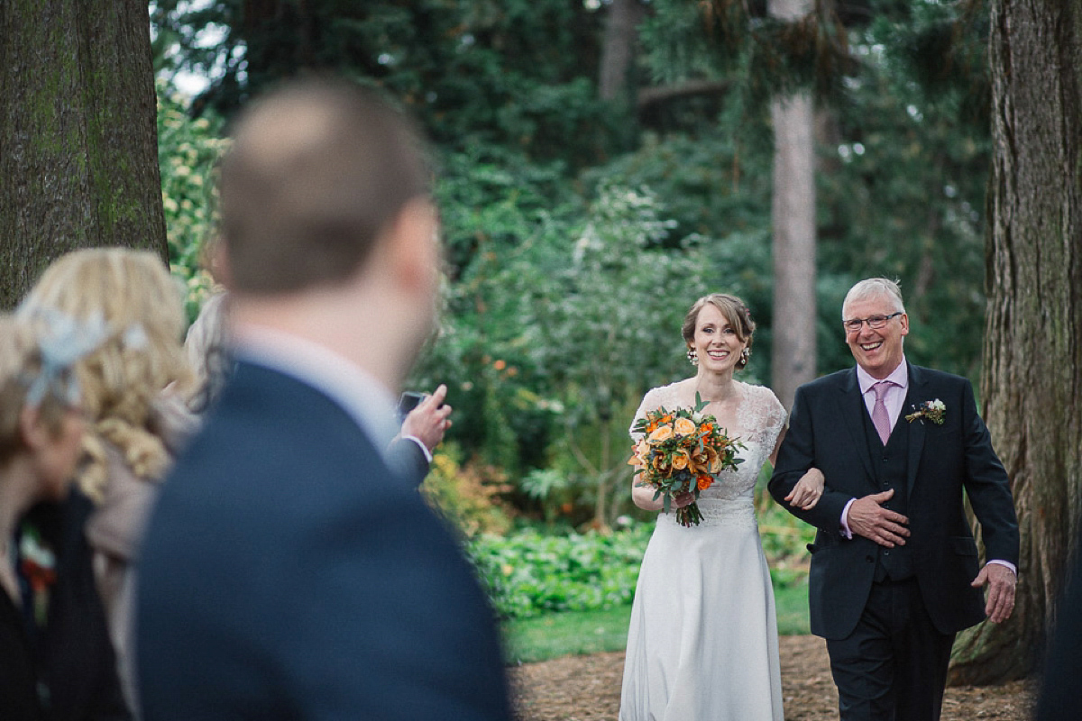
<instances>
[{"instance_id":1,"label":"thick brown tree trunk at right edge, beside the grey-haired man","mask_svg":"<svg viewBox=\"0 0 1082 721\"><path fill-rule=\"evenodd\" d=\"M1012 479L1021 562L1013 617L959 638L955 683L1035 667L1082 528L1082 2L995 0L991 19L981 395Z\"/></svg>"}]
</instances>

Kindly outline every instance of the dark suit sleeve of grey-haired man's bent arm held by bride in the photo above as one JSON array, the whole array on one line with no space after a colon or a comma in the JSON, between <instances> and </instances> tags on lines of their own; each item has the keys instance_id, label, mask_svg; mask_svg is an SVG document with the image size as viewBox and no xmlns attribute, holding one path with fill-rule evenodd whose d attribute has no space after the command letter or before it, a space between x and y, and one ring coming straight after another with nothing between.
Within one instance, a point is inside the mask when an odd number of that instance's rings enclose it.
<instances>
[{"instance_id":1,"label":"dark suit sleeve of grey-haired man's bent arm held by bride","mask_svg":"<svg viewBox=\"0 0 1082 721\"><path fill-rule=\"evenodd\" d=\"M810 403L806 387L796 389L793 411L789 416L789 430L778 450L778 463L767 489L774 499L790 513L805 523L810 523L823 533L841 535L842 511L853 498L847 493L830 490L830 478L822 496L815 508L803 510L786 503L786 496L809 468L816 466L815 425L810 414Z\"/></svg>"}]
</instances>

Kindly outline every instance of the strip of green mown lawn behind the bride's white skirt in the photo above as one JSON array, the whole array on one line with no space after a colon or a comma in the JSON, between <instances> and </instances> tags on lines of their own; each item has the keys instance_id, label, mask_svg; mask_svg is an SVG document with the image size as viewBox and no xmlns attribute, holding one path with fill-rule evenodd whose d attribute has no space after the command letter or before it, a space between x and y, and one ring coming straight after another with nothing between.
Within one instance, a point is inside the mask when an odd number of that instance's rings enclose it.
<instances>
[{"instance_id":1,"label":"strip of green mown lawn behind the bride's white skirt","mask_svg":"<svg viewBox=\"0 0 1082 721\"><path fill-rule=\"evenodd\" d=\"M778 632L808 632L808 587L794 584L774 589ZM631 605L602 611L566 611L503 625L507 663L547 660L573 654L623 651L628 642Z\"/></svg>"}]
</instances>

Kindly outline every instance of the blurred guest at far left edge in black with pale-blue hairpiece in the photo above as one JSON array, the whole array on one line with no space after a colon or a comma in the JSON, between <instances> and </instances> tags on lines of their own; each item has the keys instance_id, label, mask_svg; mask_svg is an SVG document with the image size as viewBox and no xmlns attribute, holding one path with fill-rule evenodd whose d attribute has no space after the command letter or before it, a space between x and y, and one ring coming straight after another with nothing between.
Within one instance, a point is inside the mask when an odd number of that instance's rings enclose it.
<instances>
[{"instance_id":1,"label":"blurred guest at far left edge in black with pale-blue hairpiece","mask_svg":"<svg viewBox=\"0 0 1082 721\"><path fill-rule=\"evenodd\" d=\"M71 365L96 334L0 316L0 718L129 719L70 488L83 419Z\"/></svg>"}]
</instances>

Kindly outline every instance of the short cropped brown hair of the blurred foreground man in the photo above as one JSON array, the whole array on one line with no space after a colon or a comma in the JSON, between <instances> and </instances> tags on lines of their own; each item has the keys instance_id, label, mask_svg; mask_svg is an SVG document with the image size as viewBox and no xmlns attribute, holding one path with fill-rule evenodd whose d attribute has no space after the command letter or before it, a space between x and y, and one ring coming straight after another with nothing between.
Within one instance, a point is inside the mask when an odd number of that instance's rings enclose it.
<instances>
[{"instance_id":1,"label":"short cropped brown hair of the blurred foreground man","mask_svg":"<svg viewBox=\"0 0 1082 721\"><path fill-rule=\"evenodd\" d=\"M276 295L346 282L427 197L419 135L372 92L294 83L251 105L222 166L230 288Z\"/></svg>"}]
</instances>

